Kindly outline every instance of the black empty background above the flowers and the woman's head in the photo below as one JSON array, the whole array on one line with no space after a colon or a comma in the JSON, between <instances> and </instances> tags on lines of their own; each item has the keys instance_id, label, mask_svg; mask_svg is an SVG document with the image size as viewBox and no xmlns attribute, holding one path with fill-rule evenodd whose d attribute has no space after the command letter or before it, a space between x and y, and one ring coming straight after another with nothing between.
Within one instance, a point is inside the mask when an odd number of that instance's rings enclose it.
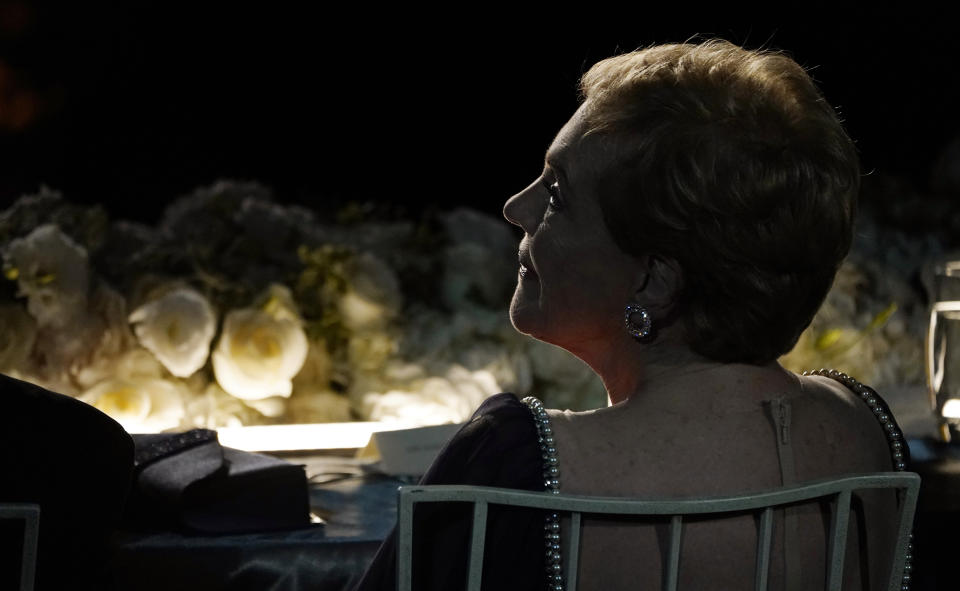
<instances>
[{"instance_id":1,"label":"black empty background above the flowers and the woman's head","mask_svg":"<svg viewBox=\"0 0 960 591\"><path fill-rule=\"evenodd\" d=\"M228 177L319 211L373 200L495 213L539 174L583 71L695 34L785 49L812 68L865 172L925 191L960 134L956 42L935 15L722 24L692 9L521 18L469 5L63 4L0 0L3 206L45 183L150 222Z\"/></svg>"}]
</instances>

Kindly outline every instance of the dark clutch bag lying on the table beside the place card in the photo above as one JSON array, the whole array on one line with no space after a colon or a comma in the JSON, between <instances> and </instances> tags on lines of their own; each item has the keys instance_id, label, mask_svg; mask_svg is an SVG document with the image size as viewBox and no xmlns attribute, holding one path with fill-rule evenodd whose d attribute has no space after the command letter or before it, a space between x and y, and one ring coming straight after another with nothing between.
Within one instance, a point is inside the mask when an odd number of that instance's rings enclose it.
<instances>
[{"instance_id":1,"label":"dark clutch bag lying on the table beside the place card","mask_svg":"<svg viewBox=\"0 0 960 591\"><path fill-rule=\"evenodd\" d=\"M222 447L216 431L134 435L132 529L231 534L306 527L304 467Z\"/></svg>"}]
</instances>

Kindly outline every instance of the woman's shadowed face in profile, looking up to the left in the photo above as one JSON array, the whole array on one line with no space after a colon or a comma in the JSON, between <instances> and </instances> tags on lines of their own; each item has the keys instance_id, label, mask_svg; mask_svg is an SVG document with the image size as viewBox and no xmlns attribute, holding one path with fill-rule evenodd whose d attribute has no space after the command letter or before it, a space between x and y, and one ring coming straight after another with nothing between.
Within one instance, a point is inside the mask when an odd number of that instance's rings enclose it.
<instances>
[{"instance_id":1,"label":"woman's shadowed face in profile, looking up to the left","mask_svg":"<svg viewBox=\"0 0 960 591\"><path fill-rule=\"evenodd\" d=\"M624 332L624 307L643 273L603 221L589 182L600 150L592 138L579 141L581 111L557 134L540 178L503 208L525 234L510 320L518 331L573 353Z\"/></svg>"}]
</instances>

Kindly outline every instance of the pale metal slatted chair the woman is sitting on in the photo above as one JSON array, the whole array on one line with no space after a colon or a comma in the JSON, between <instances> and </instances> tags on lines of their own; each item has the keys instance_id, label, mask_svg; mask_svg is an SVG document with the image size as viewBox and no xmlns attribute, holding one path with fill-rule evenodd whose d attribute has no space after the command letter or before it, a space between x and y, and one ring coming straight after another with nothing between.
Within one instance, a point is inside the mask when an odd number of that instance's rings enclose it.
<instances>
[{"instance_id":1,"label":"pale metal slatted chair the woman is sitting on","mask_svg":"<svg viewBox=\"0 0 960 591\"><path fill-rule=\"evenodd\" d=\"M720 517L733 512L759 514L756 561L757 591L765 591L769 578L773 539L773 512L793 503L832 501L829 532L829 558L826 588L839 591L843 578L850 517L851 495L860 490L897 489L900 491L898 536L894 563L887 588L897 591L906 560L907 544L913 524L920 477L912 472L883 472L842 478L817 480L769 491L724 497L683 500L639 500L519 491L478 486L405 486L400 489L398 503L397 577L400 591L410 591L412 584L413 509L417 503L468 502L473 504L473 530L467 569L467 589L480 590L484 538L487 527L487 506L490 504L529 507L570 514L569 543L564 548L566 589L577 588L577 561L580 548L581 515L669 516L670 541L663 589L675 591L679 580L680 548L684 518L687 516Z\"/></svg>"}]
</instances>

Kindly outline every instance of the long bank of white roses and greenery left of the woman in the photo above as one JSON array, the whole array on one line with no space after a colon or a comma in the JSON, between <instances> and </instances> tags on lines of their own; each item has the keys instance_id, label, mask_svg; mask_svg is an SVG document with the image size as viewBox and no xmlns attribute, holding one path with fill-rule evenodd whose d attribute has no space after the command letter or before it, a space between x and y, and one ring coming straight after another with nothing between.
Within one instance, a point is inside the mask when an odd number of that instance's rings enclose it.
<instances>
[{"instance_id":1,"label":"long bank of white roses and greenery left of the woman","mask_svg":"<svg viewBox=\"0 0 960 591\"><path fill-rule=\"evenodd\" d=\"M437 424L501 391L605 402L583 363L510 326L516 239L476 211L320 219L223 181L147 226L44 189L0 213L0 252L0 372L131 432Z\"/></svg>"}]
</instances>

